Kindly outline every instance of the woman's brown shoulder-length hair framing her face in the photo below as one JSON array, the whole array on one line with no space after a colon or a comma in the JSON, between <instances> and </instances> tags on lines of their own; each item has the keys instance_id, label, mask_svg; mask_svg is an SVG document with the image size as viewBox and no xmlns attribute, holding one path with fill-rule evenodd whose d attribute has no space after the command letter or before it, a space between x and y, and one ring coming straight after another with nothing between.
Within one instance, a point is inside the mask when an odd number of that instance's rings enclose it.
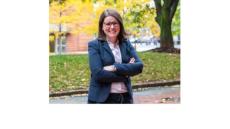
<instances>
[{"instance_id":1,"label":"woman's brown shoulder-length hair framing her face","mask_svg":"<svg viewBox=\"0 0 230 129\"><path fill-rule=\"evenodd\" d=\"M101 40L106 40L106 35L102 28L103 28L104 19L108 16L114 17L119 22L120 32L118 34L118 40L121 43L122 40L126 39L127 33L125 31L123 21L122 21L120 14L114 9L106 9L105 11L102 12L100 19L99 19L98 38Z\"/></svg>"}]
</instances>

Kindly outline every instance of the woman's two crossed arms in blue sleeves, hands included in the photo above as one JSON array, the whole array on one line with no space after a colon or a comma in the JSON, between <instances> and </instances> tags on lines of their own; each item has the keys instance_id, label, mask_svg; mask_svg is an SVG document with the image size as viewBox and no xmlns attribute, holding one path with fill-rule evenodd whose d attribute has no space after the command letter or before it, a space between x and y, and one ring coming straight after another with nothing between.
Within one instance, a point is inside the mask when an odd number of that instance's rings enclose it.
<instances>
[{"instance_id":1,"label":"woman's two crossed arms in blue sleeves, hands included","mask_svg":"<svg viewBox=\"0 0 230 129\"><path fill-rule=\"evenodd\" d=\"M103 67L98 45L94 42L89 43L89 64L91 73L95 79L99 82L123 82L127 76L134 76L141 73L143 64L138 58L134 48L132 46L129 47L132 58L128 64L115 63Z\"/></svg>"}]
</instances>

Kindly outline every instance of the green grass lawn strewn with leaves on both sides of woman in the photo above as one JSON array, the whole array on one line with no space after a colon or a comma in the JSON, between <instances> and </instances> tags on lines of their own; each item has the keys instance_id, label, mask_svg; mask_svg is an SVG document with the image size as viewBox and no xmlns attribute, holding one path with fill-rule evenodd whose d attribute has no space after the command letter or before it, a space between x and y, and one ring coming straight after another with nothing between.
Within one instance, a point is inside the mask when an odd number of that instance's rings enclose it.
<instances>
[{"instance_id":1,"label":"green grass lawn strewn with leaves on both sides of woman","mask_svg":"<svg viewBox=\"0 0 230 129\"><path fill-rule=\"evenodd\" d=\"M170 53L138 53L144 63L143 72L132 77L132 84L180 78L180 55ZM88 55L55 55L49 57L50 92L87 89L90 79Z\"/></svg>"}]
</instances>

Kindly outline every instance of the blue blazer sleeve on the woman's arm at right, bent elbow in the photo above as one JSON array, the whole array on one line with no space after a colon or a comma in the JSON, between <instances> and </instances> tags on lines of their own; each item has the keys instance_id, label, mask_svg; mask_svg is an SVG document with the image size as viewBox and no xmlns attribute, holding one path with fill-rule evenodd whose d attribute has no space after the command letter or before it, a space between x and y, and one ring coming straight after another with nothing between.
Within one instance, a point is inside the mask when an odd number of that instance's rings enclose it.
<instances>
[{"instance_id":1,"label":"blue blazer sleeve on the woman's arm at right, bent elbow","mask_svg":"<svg viewBox=\"0 0 230 129\"><path fill-rule=\"evenodd\" d=\"M135 63L133 64L115 63L114 66L116 67L116 73L118 73L119 75L134 76L142 72L143 63L138 57L135 49L133 48L133 46L129 41L127 42L127 49L128 51L130 51L130 56L135 58Z\"/></svg>"}]
</instances>

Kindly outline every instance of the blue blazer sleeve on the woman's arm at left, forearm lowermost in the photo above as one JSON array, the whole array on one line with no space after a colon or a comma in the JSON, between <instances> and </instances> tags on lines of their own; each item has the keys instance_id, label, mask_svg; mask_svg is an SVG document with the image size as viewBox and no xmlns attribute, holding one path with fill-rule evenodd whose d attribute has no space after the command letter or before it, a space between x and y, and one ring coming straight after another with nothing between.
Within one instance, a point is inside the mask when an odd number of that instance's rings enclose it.
<instances>
[{"instance_id":1,"label":"blue blazer sleeve on the woman's arm at left, forearm lowermost","mask_svg":"<svg viewBox=\"0 0 230 129\"><path fill-rule=\"evenodd\" d=\"M114 72L103 70L102 61L99 55L98 41L88 43L89 65L92 76L98 82L122 82L126 80L125 76L117 75Z\"/></svg>"}]
</instances>

